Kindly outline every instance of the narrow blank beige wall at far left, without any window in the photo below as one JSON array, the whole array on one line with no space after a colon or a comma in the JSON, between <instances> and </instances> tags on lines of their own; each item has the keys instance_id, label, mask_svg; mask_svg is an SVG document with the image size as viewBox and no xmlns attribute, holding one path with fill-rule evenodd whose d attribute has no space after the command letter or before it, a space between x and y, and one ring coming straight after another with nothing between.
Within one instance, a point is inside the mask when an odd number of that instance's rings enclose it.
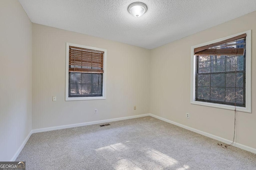
<instances>
[{"instance_id":1,"label":"narrow blank beige wall at far left, without any window","mask_svg":"<svg viewBox=\"0 0 256 170\"><path fill-rule=\"evenodd\" d=\"M31 131L32 23L18 1L0 1L0 161Z\"/></svg>"}]
</instances>

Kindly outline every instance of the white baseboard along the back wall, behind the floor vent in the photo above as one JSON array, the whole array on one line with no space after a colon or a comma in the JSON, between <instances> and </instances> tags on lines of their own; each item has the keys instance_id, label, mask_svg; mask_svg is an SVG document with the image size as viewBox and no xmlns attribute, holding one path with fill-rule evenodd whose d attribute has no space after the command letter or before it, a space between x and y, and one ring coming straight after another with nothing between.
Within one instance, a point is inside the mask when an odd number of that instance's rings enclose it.
<instances>
[{"instance_id":1,"label":"white baseboard along the back wall, behind the floor vent","mask_svg":"<svg viewBox=\"0 0 256 170\"><path fill-rule=\"evenodd\" d=\"M79 126L86 126L86 125L95 125L95 124L99 124L99 123L107 123L107 122L111 122L111 121L133 119L133 118L145 117L145 116L149 116L149 114L135 115L135 116L128 116L128 117L120 117L120 118L115 118L115 119L105 119L105 120L91 121L91 122L86 122L86 123L76 123L76 124L71 124L71 125L46 127L46 128L42 128L42 129L34 129L34 130L32 130L32 133L53 131L53 130L58 130L58 129L66 129L66 128L71 128L71 127L79 127Z\"/></svg>"}]
</instances>

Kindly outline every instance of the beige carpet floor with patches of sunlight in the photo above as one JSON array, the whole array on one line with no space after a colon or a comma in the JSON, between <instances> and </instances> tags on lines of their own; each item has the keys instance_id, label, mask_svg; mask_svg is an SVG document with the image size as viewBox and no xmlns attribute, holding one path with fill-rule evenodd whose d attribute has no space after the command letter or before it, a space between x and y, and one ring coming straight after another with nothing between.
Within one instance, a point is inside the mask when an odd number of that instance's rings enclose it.
<instances>
[{"instance_id":1,"label":"beige carpet floor with patches of sunlight","mask_svg":"<svg viewBox=\"0 0 256 170\"><path fill-rule=\"evenodd\" d=\"M256 170L256 154L153 117L34 133L26 170Z\"/></svg>"}]
</instances>

